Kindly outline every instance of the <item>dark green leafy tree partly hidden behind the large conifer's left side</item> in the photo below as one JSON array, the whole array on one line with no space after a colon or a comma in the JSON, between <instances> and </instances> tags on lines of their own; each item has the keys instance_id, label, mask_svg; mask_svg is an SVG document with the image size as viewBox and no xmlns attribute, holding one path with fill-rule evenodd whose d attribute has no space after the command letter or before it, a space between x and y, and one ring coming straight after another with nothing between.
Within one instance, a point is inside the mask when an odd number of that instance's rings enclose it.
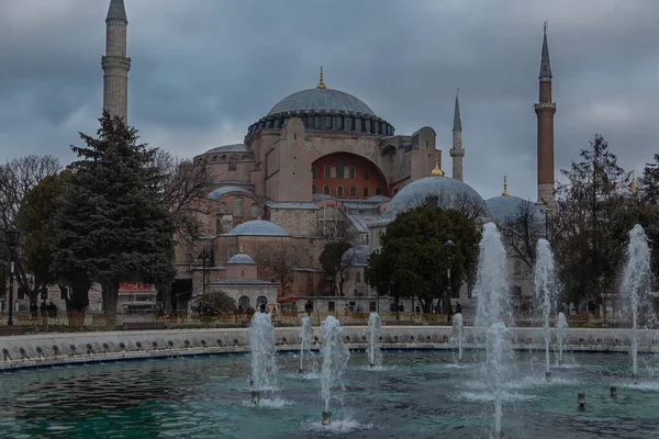
<instances>
[{"instance_id":1,"label":"dark green leafy tree partly hidden behind the large conifer's left side","mask_svg":"<svg viewBox=\"0 0 659 439\"><path fill-rule=\"evenodd\" d=\"M16 215L16 226L23 232L20 263L16 264L19 285L27 291L31 302L36 302L42 288L57 279L51 270L53 255L53 216L57 211L57 200L62 195L63 182L70 178L70 171L44 177L27 192ZM27 271L34 277L27 282ZM32 289L27 288L31 285Z\"/></svg>"}]
</instances>

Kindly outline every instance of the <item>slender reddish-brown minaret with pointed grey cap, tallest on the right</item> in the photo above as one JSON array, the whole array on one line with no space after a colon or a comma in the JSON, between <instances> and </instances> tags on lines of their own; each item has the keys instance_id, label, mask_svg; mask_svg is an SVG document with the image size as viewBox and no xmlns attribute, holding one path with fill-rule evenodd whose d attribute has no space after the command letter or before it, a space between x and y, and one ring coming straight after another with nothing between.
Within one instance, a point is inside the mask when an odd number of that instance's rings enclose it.
<instances>
[{"instance_id":1,"label":"slender reddish-brown minaret with pointed grey cap, tallest on the right","mask_svg":"<svg viewBox=\"0 0 659 439\"><path fill-rule=\"evenodd\" d=\"M556 102L551 101L551 66L547 46L547 22L543 32L543 57L540 59L539 102L535 104L538 116L538 201L554 209L554 114Z\"/></svg>"}]
</instances>

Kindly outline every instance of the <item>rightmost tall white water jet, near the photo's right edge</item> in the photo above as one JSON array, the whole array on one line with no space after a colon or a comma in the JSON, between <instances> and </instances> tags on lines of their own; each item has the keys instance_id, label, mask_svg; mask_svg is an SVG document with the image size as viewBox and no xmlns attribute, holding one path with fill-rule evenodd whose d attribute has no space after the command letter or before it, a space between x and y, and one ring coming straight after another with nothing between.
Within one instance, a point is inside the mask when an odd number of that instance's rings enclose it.
<instances>
[{"instance_id":1,"label":"rightmost tall white water jet, near the photo's right edge","mask_svg":"<svg viewBox=\"0 0 659 439\"><path fill-rule=\"evenodd\" d=\"M638 380L638 317L641 311L650 313L650 248L643 227L637 224L629 232L627 262L623 271L621 297L623 312L632 317L632 379Z\"/></svg>"}]
</instances>

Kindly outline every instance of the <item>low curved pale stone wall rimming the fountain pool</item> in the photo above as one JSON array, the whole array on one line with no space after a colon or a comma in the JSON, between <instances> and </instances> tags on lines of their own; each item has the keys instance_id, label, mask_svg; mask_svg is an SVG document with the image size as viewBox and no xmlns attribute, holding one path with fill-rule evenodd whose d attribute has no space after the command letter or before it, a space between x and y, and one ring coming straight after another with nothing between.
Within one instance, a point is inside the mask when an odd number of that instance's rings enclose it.
<instances>
[{"instance_id":1,"label":"low curved pale stone wall rimming the fountain pool","mask_svg":"<svg viewBox=\"0 0 659 439\"><path fill-rule=\"evenodd\" d=\"M344 341L351 349L364 349L366 327L344 327ZM300 328L276 329L277 348L298 350ZM442 326L382 326L383 349L453 349L451 328ZM315 328L314 347L322 344ZM639 352L659 351L659 331L639 330ZM478 328L465 327L465 348L482 348ZM544 349L541 328L511 329L513 347L520 350ZM181 356L246 352L249 328L171 329L142 331L43 334L0 337L0 371L83 364L105 361L170 358ZM556 329L551 329L551 346ZM632 345L630 329L568 329L563 346L568 351L626 352Z\"/></svg>"}]
</instances>

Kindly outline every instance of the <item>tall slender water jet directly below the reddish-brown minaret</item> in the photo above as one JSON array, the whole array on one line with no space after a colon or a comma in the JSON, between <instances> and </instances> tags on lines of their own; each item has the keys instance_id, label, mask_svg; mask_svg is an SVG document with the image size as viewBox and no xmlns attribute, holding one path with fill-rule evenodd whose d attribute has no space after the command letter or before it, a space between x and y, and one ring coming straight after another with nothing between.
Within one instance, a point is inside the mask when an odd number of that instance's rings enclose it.
<instances>
[{"instance_id":1,"label":"tall slender water jet directly below the reddish-brown minaret","mask_svg":"<svg viewBox=\"0 0 659 439\"><path fill-rule=\"evenodd\" d=\"M556 308L556 268L554 252L546 239L538 240L536 246L536 263L533 270L533 292L538 307L543 311L543 328L545 336L545 380L551 381L549 371L549 317Z\"/></svg>"}]
</instances>

